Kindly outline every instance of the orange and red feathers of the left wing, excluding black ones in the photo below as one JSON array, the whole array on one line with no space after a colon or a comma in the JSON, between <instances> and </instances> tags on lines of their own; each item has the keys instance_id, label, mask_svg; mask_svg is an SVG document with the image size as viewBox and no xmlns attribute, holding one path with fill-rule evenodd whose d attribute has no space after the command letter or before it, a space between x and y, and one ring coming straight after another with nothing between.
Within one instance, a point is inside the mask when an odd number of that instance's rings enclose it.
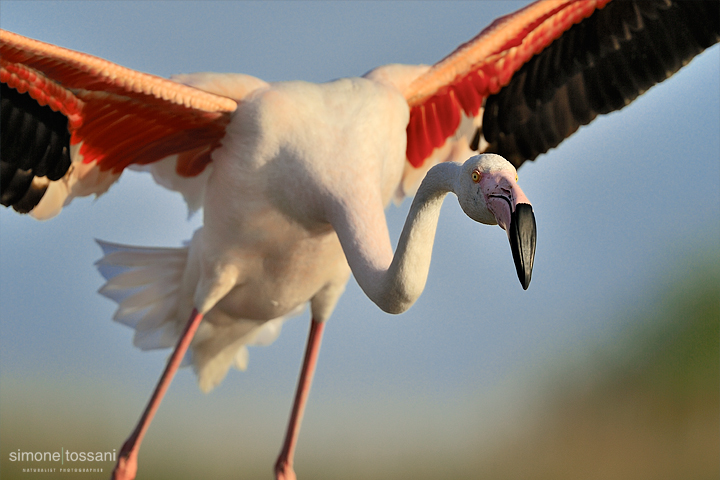
<instances>
[{"instance_id":1,"label":"orange and red feathers of the left wing, excluding black ones","mask_svg":"<svg viewBox=\"0 0 720 480\"><path fill-rule=\"evenodd\" d=\"M84 163L119 173L132 163L205 151L184 176L209 162L237 104L171 80L0 31L0 80L68 118ZM181 167L181 165L179 165ZM192 168L190 168L192 167Z\"/></svg>"}]
</instances>

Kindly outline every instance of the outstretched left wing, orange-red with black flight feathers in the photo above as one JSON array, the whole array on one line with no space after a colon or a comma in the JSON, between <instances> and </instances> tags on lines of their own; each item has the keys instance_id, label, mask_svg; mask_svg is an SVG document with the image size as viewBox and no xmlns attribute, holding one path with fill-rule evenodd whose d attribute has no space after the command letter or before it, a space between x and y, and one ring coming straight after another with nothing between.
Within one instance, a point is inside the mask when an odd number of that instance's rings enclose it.
<instances>
[{"instance_id":1,"label":"outstretched left wing, orange-red with black flight feathers","mask_svg":"<svg viewBox=\"0 0 720 480\"><path fill-rule=\"evenodd\" d=\"M0 30L0 200L38 218L101 194L131 165L177 155L192 177L210 162L230 98Z\"/></svg>"}]
</instances>

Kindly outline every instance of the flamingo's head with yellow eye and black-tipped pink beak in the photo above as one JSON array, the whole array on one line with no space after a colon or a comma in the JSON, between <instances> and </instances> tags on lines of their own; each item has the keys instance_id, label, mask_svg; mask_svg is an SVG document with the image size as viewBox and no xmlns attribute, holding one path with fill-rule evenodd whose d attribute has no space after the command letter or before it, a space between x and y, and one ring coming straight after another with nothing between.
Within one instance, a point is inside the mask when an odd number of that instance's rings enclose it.
<instances>
[{"instance_id":1,"label":"flamingo's head with yellow eye and black-tipped pink beak","mask_svg":"<svg viewBox=\"0 0 720 480\"><path fill-rule=\"evenodd\" d=\"M467 216L507 232L518 278L527 290L537 230L532 205L517 180L515 167L500 155L476 155L462 165L455 193Z\"/></svg>"}]
</instances>

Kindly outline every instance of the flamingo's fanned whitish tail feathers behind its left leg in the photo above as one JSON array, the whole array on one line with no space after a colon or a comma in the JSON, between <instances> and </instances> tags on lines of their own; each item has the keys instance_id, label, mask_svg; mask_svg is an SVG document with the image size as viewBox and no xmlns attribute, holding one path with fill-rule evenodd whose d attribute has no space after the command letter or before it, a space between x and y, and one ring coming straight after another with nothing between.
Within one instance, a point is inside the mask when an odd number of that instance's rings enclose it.
<instances>
[{"instance_id":1,"label":"flamingo's fanned whitish tail feathers behind its left leg","mask_svg":"<svg viewBox=\"0 0 720 480\"><path fill-rule=\"evenodd\" d=\"M174 347L192 309L192 294L182 286L192 246L130 247L96 241L104 256L95 265L107 280L99 293L118 304L113 319L135 330L133 345L141 350ZM192 365L200 389L212 390L231 366L245 370L247 346L272 343L290 315L261 322L211 309L182 366Z\"/></svg>"}]
</instances>

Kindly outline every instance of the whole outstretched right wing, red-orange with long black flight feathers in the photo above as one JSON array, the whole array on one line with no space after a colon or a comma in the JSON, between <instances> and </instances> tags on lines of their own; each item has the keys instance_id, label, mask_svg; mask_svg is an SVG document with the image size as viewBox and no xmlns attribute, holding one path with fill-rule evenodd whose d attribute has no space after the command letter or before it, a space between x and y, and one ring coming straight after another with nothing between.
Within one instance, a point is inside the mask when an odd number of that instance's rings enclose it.
<instances>
[{"instance_id":1,"label":"whole outstretched right wing, red-orange with long black flight feathers","mask_svg":"<svg viewBox=\"0 0 720 480\"><path fill-rule=\"evenodd\" d=\"M406 174L444 160L438 151L459 138L519 167L598 114L629 104L719 39L715 0L529 5L408 86Z\"/></svg>"}]
</instances>

